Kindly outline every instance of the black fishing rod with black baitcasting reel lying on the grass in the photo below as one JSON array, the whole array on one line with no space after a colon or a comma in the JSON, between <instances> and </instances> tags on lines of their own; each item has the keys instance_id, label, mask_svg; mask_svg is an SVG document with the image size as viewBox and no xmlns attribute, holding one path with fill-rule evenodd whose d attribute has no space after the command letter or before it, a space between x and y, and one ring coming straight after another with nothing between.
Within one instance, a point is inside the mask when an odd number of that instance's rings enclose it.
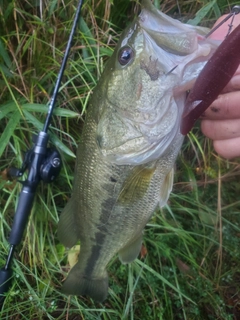
<instances>
[{"instance_id":1,"label":"black fishing rod with black baitcasting reel lying on the grass","mask_svg":"<svg viewBox=\"0 0 240 320\"><path fill-rule=\"evenodd\" d=\"M52 182L58 176L61 170L62 161L60 154L57 150L51 150L48 148L49 135L47 132L51 123L53 109L68 60L73 35L75 33L77 22L81 13L82 4L83 0L79 0L52 98L48 103L48 113L43 130L37 135L33 136L34 145L29 151L26 152L22 167L20 169L12 168L9 170L9 174L14 177L22 177L26 170L28 170L28 175L26 180L20 181L22 183L22 189L19 195L17 210L14 215L13 225L8 240L10 248L6 258L5 266L0 269L0 308L2 308L6 294L12 284L13 270L11 268L11 264L13 255L16 246L20 244L23 237L23 233L28 222L28 217L32 209L37 186L41 180L46 183Z\"/></svg>"}]
</instances>

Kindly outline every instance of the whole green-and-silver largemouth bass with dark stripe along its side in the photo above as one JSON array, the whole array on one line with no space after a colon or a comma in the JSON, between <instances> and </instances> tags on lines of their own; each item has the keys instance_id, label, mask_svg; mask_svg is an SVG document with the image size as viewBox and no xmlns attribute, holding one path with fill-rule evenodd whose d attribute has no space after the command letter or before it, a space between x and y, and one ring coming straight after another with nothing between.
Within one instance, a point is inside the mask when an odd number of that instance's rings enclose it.
<instances>
[{"instance_id":1,"label":"whole green-and-silver largemouth bass with dark stripe along its side","mask_svg":"<svg viewBox=\"0 0 240 320\"><path fill-rule=\"evenodd\" d=\"M87 110L60 216L60 241L81 242L63 292L103 301L108 262L116 253L123 263L138 256L145 225L172 190L186 90L215 50L205 33L149 1L123 32Z\"/></svg>"}]
</instances>

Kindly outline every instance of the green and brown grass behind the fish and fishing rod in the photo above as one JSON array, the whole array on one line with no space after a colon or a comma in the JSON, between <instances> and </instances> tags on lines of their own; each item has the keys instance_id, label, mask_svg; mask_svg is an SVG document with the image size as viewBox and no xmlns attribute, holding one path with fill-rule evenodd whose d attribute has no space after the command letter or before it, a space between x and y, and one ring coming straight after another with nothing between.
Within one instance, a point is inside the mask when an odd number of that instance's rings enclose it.
<instances>
[{"instance_id":1,"label":"green and brown grass behind the fish and fishing rod","mask_svg":"<svg viewBox=\"0 0 240 320\"><path fill-rule=\"evenodd\" d=\"M139 9L134 1L112 2L84 3L50 130L63 169L55 183L38 187L0 318L240 319L240 166L237 160L220 159L198 127L185 139L168 206L146 227L141 257L130 265L121 265L117 257L111 261L106 302L94 304L60 292L69 267L56 236L57 222L71 193L85 110L121 30ZM197 14L204 25L237 4L154 3L183 21L204 8ZM7 168L21 166L32 134L42 129L75 8L73 0L0 1L1 265L21 190L8 180Z\"/></svg>"}]
</instances>

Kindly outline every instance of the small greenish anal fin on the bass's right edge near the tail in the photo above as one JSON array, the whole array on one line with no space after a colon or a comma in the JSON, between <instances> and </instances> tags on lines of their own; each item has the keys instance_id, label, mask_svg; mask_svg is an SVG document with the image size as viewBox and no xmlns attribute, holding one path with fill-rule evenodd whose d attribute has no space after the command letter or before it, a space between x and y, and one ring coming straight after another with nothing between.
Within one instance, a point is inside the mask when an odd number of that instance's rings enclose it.
<instances>
[{"instance_id":1,"label":"small greenish anal fin on the bass's right edge near the tail","mask_svg":"<svg viewBox=\"0 0 240 320\"><path fill-rule=\"evenodd\" d=\"M119 259L122 263L130 263L137 258L142 246L142 232L133 241L127 244L118 252Z\"/></svg>"}]
</instances>

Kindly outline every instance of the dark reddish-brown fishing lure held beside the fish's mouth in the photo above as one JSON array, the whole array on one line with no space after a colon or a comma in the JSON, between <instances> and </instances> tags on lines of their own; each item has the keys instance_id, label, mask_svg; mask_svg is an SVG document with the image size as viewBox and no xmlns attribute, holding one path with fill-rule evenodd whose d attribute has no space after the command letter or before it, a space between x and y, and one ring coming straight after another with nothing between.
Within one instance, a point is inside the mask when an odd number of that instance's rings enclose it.
<instances>
[{"instance_id":1,"label":"dark reddish-brown fishing lure held beside the fish's mouth","mask_svg":"<svg viewBox=\"0 0 240 320\"><path fill-rule=\"evenodd\" d=\"M190 91L180 131L186 135L195 121L218 97L240 64L240 25L220 44Z\"/></svg>"}]
</instances>

